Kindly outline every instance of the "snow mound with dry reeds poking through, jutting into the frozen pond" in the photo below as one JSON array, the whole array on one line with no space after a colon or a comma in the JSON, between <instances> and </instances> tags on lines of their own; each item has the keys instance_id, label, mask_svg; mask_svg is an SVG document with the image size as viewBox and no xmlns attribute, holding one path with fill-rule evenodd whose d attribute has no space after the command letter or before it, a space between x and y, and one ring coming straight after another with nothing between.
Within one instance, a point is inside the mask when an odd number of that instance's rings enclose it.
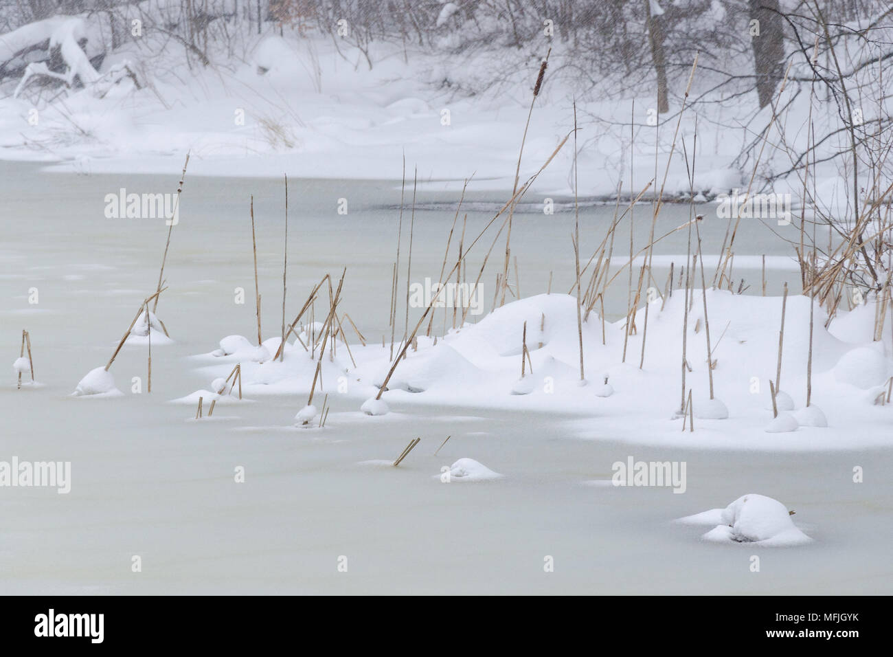
<instances>
[{"instance_id":1,"label":"snow mound with dry reeds poking through, jutting into the frozen pond","mask_svg":"<svg viewBox=\"0 0 893 657\"><path fill-rule=\"evenodd\" d=\"M780 405L782 396L789 397L789 407L782 408L792 414L780 410L773 420L769 382L776 376L781 299L708 291L707 301L713 342L713 400L700 292L694 293L689 311L690 371L686 372L685 391L692 391L694 432L688 426L682 431L681 419L674 419L683 394L680 362L684 301L678 291L665 303L655 299L649 307L641 368L644 309L639 309L636 318L638 332L626 341L623 321L603 325L593 313L582 327L588 385L580 385L576 299L541 294L508 303L479 323L466 324L436 343L433 338L420 337L418 349L407 351L388 381L388 390L380 400L385 402L382 410L372 414L387 414L388 407L405 409L413 405L538 410L579 417L562 422L568 436L584 439L766 451L889 446L893 405L875 403L893 375L889 324L883 341L871 341L868 336L874 317L867 307L841 314L830 323L830 330L823 325L827 316L816 307L812 405L806 407L809 299L790 297L782 390L776 405ZM521 381L525 322L530 363ZM838 324L845 330L838 330ZM309 345L311 336L301 335L304 344ZM274 353L279 340L271 340L275 341L270 345ZM236 342L231 336L227 341ZM251 358L256 348L246 339L244 344L247 346L236 353L219 355L218 350L193 357L193 362L209 380L226 375L241 363L248 398L309 392L319 360L318 348L311 354L295 341L287 343L282 362L258 363ZM391 366L389 355L389 346L351 344L348 351L348 345L337 341L335 356L327 353L321 359L317 394L342 395L359 408L362 400L377 395ZM610 383L604 383L605 377ZM522 394L519 383L524 383ZM368 405L363 405L367 413ZM827 426L819 421L820 414L827 417ZM784 417L789 417L793 425L781 432L769 428ZM283 418L283 423L287 419ZM854 426L858 426L857 432Z\"/></svg>"}]
</instances>

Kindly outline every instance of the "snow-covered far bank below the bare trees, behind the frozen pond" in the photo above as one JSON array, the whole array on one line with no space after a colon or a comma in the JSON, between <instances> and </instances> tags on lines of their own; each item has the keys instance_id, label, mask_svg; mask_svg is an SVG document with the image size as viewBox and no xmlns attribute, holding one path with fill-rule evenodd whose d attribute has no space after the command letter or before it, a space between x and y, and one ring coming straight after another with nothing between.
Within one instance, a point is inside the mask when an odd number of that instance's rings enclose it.
<instances>
[{"instance_id":1,"label":"snow-covered far bank below the bare trees, behind the frozen pond","mask_svg":"<svg viewBox=\"0 0 893 657\"><path fill-rule=\"evenodd\" d=\"M95 26L82 29L95 31ZM535 67L505 80L498 92L463 96L443 87L442 56L407 53L405 46L374 44L375 65L369 70L357 65L364 55L355 48L313 33L246 38L243 58L207 67L187 67L187 55L171 44L169 53L139 67L142 77L122 74L122 67L145 56L135 46L122 46L104 58L97 72L110 86L101 94L93 85L46 105L21 96L0 99L3 156L78 173L174 175L190 151L189 175L279 177L286 172L395 181L405 156L426 189L459 190L472 173L472 190L511 189ZM553 54L556 65L560 47ZM485 65L483 55L458 62L447 77L472 77L476 66ZM649 194L661 186L665 198L689 196L681 148L672 148L671 114L661 119L666 125L655 126L647 115L651 97L580 97L572 80L562 77L549 81L537 98L522 177L534 173L572 130L574 98L581 121L581 197L613 198L618 184L625 197L638 194L655 171L663 172L671 151L665 184L655 182ZM739 161L753 140L748 123L755 107L722 97L703 100L686 110L679 135L690 148L697 118L695 190L713 198L746 189L750 171ZM801 94L796 103L785 105L787 122L805 122L805 100ZM679 109L674 105L672 112ZM764 114L757 122L768 122ZM816 113L813 120L826 117ZM742 128L732 134L727 126L734 123ZM790 164L785 153L767 159L769 169ZM544 198L572 196L572 163L572 148L563 149L533 192ZM833 165L820 164L812 174L822 198L841 195L844 188ZM779 183L780 192L801 188L793 174Z\"/></svg>"}]
</instances>

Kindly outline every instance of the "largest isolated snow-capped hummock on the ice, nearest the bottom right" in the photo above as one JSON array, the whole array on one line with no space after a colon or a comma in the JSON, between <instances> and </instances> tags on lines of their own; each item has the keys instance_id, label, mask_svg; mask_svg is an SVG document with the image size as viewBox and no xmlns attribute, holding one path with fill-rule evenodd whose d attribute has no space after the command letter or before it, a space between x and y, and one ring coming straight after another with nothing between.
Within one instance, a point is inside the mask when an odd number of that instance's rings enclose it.
<instances>
[{"instance_id":1,"label":"largest isolated snow-capped hummock on the ice, nearest the bottom right","mask_svg":"<svg viewBox=\"0 0 893 657\"><path fill-rule=\"evenodd\" d=\"M713 509L679 518L687 525L715 525L703 538L717 543L799 545L813 539L801 532L788 508L765 495L747 493L725 509Z\"/></svg>"}]
</instances>

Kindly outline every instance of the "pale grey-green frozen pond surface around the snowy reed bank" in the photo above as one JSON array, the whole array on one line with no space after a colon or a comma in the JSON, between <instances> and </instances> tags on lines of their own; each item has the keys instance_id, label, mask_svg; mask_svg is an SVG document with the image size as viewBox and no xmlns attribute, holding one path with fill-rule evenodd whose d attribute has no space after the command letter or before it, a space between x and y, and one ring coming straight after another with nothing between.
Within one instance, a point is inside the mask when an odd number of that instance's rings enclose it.
<instances>
[{"instance_id":1,"label":"pale grey-green frozen pond surface around the snowy reed bank","mask_svg":"<svg viewBox=\"0 0 893 657\"><path fill-rule=\"evenodd\" d=\"M292 428L304 399L263 397L220 406L214 420L166 403L209 383L186 358L230 333L251 336L254 306L234 303L254 289L248 198L255 195L264 337L278 332L281 304L283 186L280 180L188 177L165 269L170 290L158 310L175 343L154 348L151 394L130 394L146 375L145 350L127 347L113 374L126 394L73 399L79 378L103 366L140 301L154 291L166 229L160 220L107 219L104 197L126 188L176 189L170 176L40 173L0 164L4 240L0 290L6 303L0 343L12 363L21 329L46 387L16 391L12 369L0 388L0 459L70 460L71 493L0 488L0 592L3 593L577 593L859 594L893 591L893 454L884 451L760 453L655 449L613 440L569 438L554 415L413 406L364 417L360 398L331 400L323 432ZM412 190L407 190L407 208ZM531 196L515 215L513 255L522 296L567 291L572 279L572 213L544 215ZM322 274L347 266L343 309L371 341L388 333L399 181L290 181L289 314ZM338 199L348 212L338 215ZM420 191L421 204L455 202L458 193ZM505 198L469 193L466 235ZM437 278L455 207L415 217L413 281ZM473 208L473 212L472 212ZM647 240L650 205L635 213L636 248ZM725 222L705 206L705 253L718 253ZM602 240L613 206L580 213L581 257ZM656 234L689 218L667 206ZM711 221L712 219L712 221ZM404 215L408 229L409 212ZM462 223L460 215L459 223ZM787 227L794 239L794 228ZM623 240L627 240L625 243ZM614 255L629 253L629 223ZM489 247L469 257L477 274ZM489 307L500 238L482 279ZM764 226L742 222L737 257L789 249ZM655 257L684 254L686 234L664 240ZM401 268L405 285L405 250ZM676 260L677 266L680 258ZM448 267L447 267L448 269ZM666 269L655 266L663 286ZM621 274L626 276L627 274ZM638 275L638 270L634 277ZM709 274L708 274L709 275ZM760 287L759 269L733 274ZM789 265L769 270L798 291ZM37 289L38 303L32 289ZM758 293L758 292L757 292ZM625 311L625 284L607 314ZM402 309L401 311L402 312ZM398 317L401 315L398 313ZM435 325L439 324L438 320ZM399 333L399 332L398 332ZM452 438L437 457L433 452ZM419 447L399 468L362 464ZM614 461L684 460L688 490L587 485L608 479ZM470 457L503 473L495 482L438 481L440 467ZM234 468L245 467L244 484ZM863 484L852 482L865 467ZM763 493L797 511L815 542L779 549L698 540L703 530L673 518ZM761 572L749 558L761 557ZM131 558L142 572L131 572ZM346 556L347 572L338 572ZM544 573L546 556L555 572Z\"/></svg>"}]
</instances>

